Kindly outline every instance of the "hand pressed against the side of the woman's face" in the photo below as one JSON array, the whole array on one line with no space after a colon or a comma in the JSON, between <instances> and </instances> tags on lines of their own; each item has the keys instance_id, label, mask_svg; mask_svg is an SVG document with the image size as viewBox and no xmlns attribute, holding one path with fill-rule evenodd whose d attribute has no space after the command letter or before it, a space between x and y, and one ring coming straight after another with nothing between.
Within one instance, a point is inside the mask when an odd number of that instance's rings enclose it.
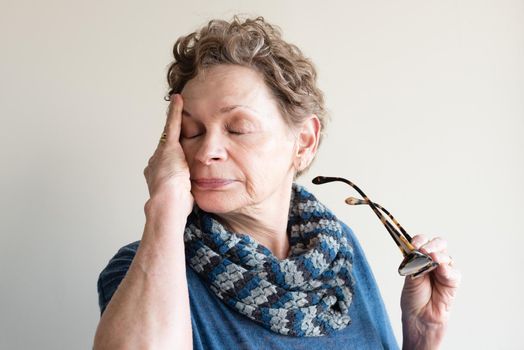
<instances>
[{"instance_id":1,"label":"hand pressed against the side of the woman's face","mask_svg":"<svg viewBox=\"0 0 524 350\"><path fill-rule=\"evenodd\" d=\"M180 129L182 127L182 96L171 95L164 132L165 142L160 141L153 156L144 169L151 201L161 203L169 209L176 204L176 210L186 215L193 209L193 195L186 156L180 145Z\"/></svg>"}]
</instances>

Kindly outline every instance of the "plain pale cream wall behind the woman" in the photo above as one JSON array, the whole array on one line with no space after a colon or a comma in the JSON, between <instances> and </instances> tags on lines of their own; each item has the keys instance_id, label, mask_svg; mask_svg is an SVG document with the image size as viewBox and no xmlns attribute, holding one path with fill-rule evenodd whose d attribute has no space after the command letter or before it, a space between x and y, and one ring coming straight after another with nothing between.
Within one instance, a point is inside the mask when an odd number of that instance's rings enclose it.
<instances>
[{"instance_id":1,"label":"plain pale cream wall behind the woman","mask_svg":"<svg viewBox=\"0 0 524 350\"><path fill-rule=\"evenodd\" d=\"M88 349L96 281L140 239L142 171L175 40L262 15L316 64L332 115L300 179L358 235L401 340L401 254L344 176L463 273L444 349L518 349L523 1L6 1L0 10L0 348Z\"/></svg>"}]
</instances>

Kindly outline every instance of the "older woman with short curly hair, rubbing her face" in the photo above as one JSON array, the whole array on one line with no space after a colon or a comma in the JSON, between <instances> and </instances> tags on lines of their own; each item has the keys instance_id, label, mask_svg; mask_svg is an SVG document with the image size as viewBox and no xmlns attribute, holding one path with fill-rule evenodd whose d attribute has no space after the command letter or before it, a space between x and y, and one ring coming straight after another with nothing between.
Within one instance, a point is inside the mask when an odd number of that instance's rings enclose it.
<instances>
[{"instance_id":1,"label":"older woman with short curly hair, rubbing her face","mask_svg":"<svg viewBox=\"0 0 524 350\"><path fill-rule=\"evenodd\" d=\"M262 17L181 37L164 133L144 170L140 241L98 280L96 349L398 348L352 230L294 180L326 113L313 64ZM460 275L406 278L403 348L434 349Z\"/></svg>"}]
</instances>

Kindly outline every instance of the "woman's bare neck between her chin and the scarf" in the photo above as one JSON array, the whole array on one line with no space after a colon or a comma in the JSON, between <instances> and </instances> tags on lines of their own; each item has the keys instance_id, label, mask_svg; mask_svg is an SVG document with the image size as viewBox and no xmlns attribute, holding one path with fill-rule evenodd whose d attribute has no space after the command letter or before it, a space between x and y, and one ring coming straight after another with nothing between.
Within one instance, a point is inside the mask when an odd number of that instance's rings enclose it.
<instances>
[{"instance_id":1,"label":"woman's bare neck between her chin and the scarf","mask_svg":"<svg viewBox=\"0 0 524 350\"><path fill-rule=\"evenodd\" d=\"M220 221L229 230L248 234L283 260L289 255L287 222L291 186L276 191L263 203L250 206L239 213L220 214Z\"/></svg>"}]
</instances>

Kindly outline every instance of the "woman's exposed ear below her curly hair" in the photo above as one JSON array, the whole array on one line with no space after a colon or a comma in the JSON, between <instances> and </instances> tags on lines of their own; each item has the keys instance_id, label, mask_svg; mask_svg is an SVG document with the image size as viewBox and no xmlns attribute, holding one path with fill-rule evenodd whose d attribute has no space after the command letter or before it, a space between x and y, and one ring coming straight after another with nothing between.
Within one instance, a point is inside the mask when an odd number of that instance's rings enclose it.
<instances>
[{"instance_id":1,"label":"woman's exposed ear below her curly hair","mask_svg":"<svg viewBox=\"0 0 524 350\"><path fill-rule=\"evenodd\" d=\"M294 165L297 171L309 166L317 153L321 124L315 114L312 114L299 127Z\"/></svg>"}]
</instances>

